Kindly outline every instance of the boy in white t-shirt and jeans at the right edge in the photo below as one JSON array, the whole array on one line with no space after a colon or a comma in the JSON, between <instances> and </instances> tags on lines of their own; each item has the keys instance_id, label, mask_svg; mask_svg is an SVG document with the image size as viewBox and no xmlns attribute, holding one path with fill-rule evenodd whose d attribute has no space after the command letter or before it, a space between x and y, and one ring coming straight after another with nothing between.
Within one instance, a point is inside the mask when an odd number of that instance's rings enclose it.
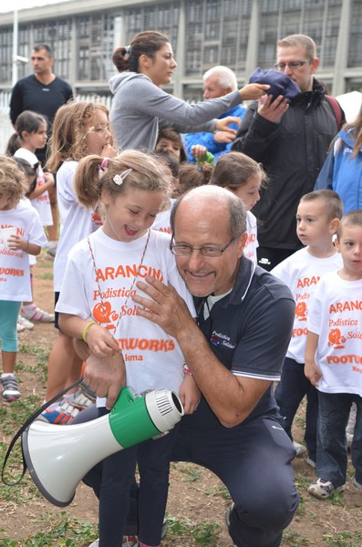
<instances>
[{"instance_id":1,"label":"boy in white t-shirt and jeans at the right edge","mask_svg":"<svg viewBox=\"0 0 362 547\"><path fill-rule=\"evenodd\" d=\"M326 274L310 304L305 376L318 390L316 470L308 492L325 499L345 490L346 424L352 403L357 421L351 446L354 486L362 492L362 211L343 217L336 249L343 266Z\"/></svg>"}]
</instances>

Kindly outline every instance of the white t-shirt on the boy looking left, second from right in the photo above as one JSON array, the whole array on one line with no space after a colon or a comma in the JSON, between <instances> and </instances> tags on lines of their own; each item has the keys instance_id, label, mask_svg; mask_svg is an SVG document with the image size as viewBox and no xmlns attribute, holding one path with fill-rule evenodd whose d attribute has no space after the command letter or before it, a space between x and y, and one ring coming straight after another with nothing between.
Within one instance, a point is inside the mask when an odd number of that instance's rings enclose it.
<instances>
[{"instance_id":1,"label":"white t-shirt on the boy looking left, second from right","mask_svg":"<svg viewBox=\"0 0 362 547\"><path fill-rule=\"evenodd\" d=\"M286 356L297 363L305 362L306 319L309 299L319 279L343 265L341 255L335 253L328 258L317 258L308 253L307 247L288 256L277 264L271 274L289 287L295 298L295 324Z\"/></svg>"}]
</instances>

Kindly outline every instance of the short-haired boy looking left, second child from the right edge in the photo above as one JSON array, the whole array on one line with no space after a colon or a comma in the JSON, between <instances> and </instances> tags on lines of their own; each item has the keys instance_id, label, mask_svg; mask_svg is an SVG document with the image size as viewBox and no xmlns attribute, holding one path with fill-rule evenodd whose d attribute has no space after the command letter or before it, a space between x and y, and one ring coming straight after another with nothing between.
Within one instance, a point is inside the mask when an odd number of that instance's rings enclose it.
<instances>
[{"instance_id":1,"label":"short-haired boy looking left, second child from the right edge","mask_svg":"<svg viewBox=\"0 0 362 547\"><path fill-rule=\"evenodd\" d=\"M272 270L272 274L281 279L295 297L295 325L275 398L285 419L285 431L293 440L295 413L306 395L306 461L313 468L316 459L318 394L304 373L307 308L315 284L322 275L342 265L332 241L342 212L342 201L334 191L320 190L305 194L296 212L296 234L306 246ZM305 452L304 445L294 444L297 456Z\"/></svg>"}]
</instances>

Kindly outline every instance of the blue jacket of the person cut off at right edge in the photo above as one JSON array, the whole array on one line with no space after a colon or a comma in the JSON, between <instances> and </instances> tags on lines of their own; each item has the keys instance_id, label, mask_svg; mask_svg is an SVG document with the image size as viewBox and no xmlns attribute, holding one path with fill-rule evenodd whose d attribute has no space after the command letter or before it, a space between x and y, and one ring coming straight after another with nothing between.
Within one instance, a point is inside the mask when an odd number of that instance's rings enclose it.
<instances>
[{"instance_id":1,"label":"blue jacket of the person cut off at right edge","mask_svg":"<svg viewBox=\"0 0 362 547\"><path fill-rule=\"evenodd\" d=\"M362 149L351 159L355 139L351 128L342 129L315 181L315 190L334 190L343 201L343 212L362 209Z\"/></svg>"}]
</instances>

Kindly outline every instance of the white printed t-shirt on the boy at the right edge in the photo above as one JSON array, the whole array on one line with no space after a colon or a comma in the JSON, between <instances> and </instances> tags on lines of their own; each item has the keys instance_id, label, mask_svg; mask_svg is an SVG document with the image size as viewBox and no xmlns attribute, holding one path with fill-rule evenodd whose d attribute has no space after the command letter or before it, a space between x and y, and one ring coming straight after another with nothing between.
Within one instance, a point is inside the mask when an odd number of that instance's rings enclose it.
<instances>
[{"instance_id":1,"label":"white printed t-shirt on the boy at the right edge","mask_svg":"<svg viewBox=\"0 0 362 547\"><path fill-rule=\"evenodd\" d=\"M315 364L323 375L317 389L362 397L362 280L324 275L309 310L306 325L319 336Z\"/></svg>"}]
</instances>

